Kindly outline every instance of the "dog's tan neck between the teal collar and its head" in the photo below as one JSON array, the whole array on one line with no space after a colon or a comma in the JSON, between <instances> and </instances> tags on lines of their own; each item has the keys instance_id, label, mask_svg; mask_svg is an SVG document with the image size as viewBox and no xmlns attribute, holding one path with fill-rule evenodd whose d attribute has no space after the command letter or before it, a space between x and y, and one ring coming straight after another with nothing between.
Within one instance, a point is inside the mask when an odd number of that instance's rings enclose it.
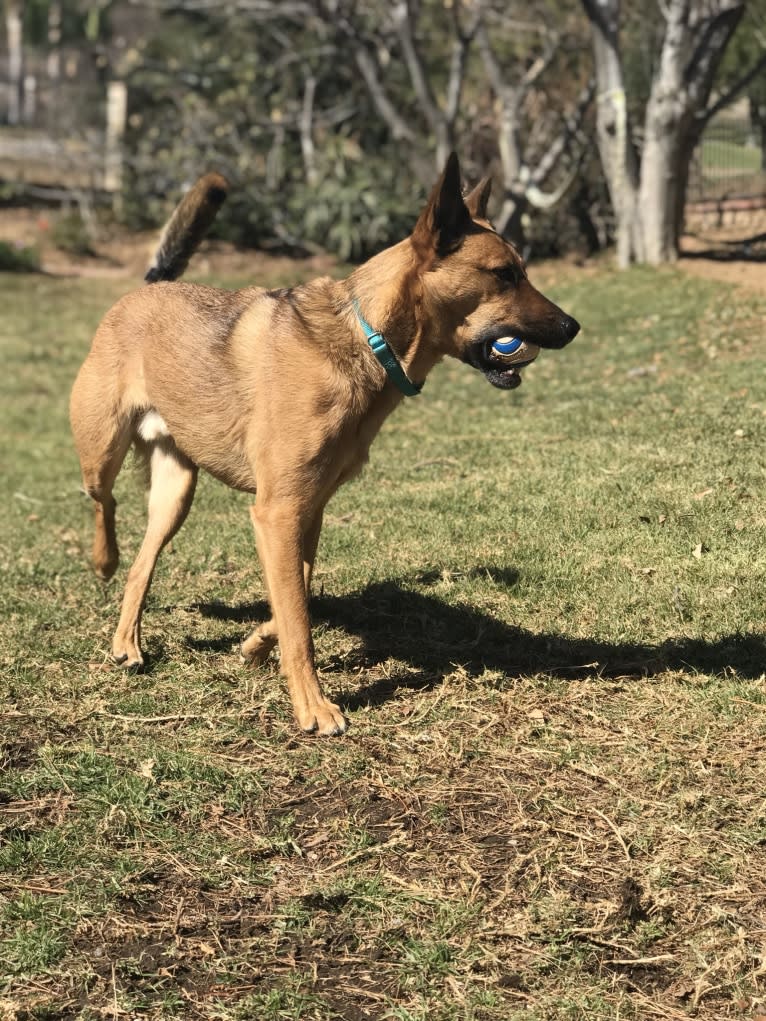
<instances>
[{"instance_id":1,"label":"dog's tan neck between the teal collar and its head","mask_svg":"<svg viewBox=\"0 0 766 1021\"><path fill-rule=\"evenodd\" d=\"M410 379L422 383L439 355L433 344L424 344L419 262L410 240L373 255L345 284L351 314L356 302L365 320L384 335ZM354 329L361 329L358 323Z\"/></svg>"}]
</instances>

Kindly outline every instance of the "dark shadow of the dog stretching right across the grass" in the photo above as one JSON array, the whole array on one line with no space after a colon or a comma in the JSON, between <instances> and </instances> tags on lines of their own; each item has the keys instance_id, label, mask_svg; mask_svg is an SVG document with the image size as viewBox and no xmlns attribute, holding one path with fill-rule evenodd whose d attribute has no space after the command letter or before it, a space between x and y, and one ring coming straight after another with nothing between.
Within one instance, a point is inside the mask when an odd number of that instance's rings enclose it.
<instances>
[{"instance_id":1,"label":"dark shadow of the dog stretching right across the grass","mask_svg":"<svg viewBox=\"0 0 766 1021\"><path fill-rule=\"evenodd\" d=\"M501 579L495 577L495 569L487 572L506 584L516 580L513 572L502 572ZM426 584L435 580L436 576L416 579ZM198 603L195 609L205 617L241 623L262 620L267 611L264 603ZM766 637L762 635L731 634L712 641L679 637L650 645L535 634L505 624L475 606L456 605L438 595L413 591L399 581L375 582L348 595L315 596L312 619L315 626L342 628L362 639L361 647L322 664L326 676L333 671L351 670L378 674L378 679L344 699L344 708L349 711L385 702L397 688L433 688L457 667L471 676L480 676L485 670L498 671L509 681L530 674L568 680L637 680L667 670L757 678L766 669ZM223 649L243 634L194 644ZM380 677L381 672L375 668L391 658L406 663L408 669L386 670Z\"/></svg>"}]
</instances>

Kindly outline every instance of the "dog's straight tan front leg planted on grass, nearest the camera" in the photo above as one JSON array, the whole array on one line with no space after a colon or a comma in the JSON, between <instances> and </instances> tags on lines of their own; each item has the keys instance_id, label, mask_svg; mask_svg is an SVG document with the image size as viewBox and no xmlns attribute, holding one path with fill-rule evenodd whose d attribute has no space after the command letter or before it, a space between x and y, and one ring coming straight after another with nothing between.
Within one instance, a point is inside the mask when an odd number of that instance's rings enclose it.
<instances>
[{"instance_id":1,"label":"dog's straight tan front leg planted on grass, nearest the camera","mask_svg":"<svg viewBox=\"0 0 766 1021\"><path fill-rule=\"evenodd\" d=\"M297 508L287 501L256 499L250 517L295 719L301 730L342 734L346 721L338 707L322 693L315 666L303 566L306 525Z\"/></svg>"}]
</instances>

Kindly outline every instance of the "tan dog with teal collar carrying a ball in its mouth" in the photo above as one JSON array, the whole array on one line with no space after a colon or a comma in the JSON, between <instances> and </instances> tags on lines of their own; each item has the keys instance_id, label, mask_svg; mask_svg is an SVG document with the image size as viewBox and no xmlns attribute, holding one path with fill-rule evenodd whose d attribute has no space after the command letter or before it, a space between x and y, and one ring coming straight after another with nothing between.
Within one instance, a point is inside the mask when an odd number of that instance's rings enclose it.
<instances>
[{"instance_id":1,"label":"tan dog with teal collar carrying a ball in its mouth","mask_svg":"<svg viewBox=\"0 0 766 1021\"><path fill-rule=\"evenodd\" d=\"M71 391L70 421L95 506L93 564L117 567L112 486L131 445L148 466L148 521L112 643L140 668L141 616L162 547L191 506L198 470L254 494L250 517L272 619L245 639L262 663L279 637L297 725L347 726L315 665L308 592L327 501L368 459L384 420L445 355L504 389L517 368L499 338L562 348L579 324L529 282L487 220L490 180L464 197L452 153L410 237L345 280L219 290L175 282L227 192L201 178L164 229L146 275L101 322Z\"/></svg>"}]
</instances>

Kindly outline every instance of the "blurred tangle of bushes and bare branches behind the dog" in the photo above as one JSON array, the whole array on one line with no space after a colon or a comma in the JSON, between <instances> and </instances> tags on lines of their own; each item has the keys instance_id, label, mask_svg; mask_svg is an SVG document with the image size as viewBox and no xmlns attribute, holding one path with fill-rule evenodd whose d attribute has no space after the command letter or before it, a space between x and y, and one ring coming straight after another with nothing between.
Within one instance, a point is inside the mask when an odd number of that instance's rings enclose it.
<instances>
[{"instance_id":1,"label":"blurred tangle of bushes and bare branches behind the dog","mask_svg":"<svg viewBox=\"0 0 766 1021\"><path fill-rule=\"evenodd\" d=\"M219 226L225 237L362 258L401 238L456 148L468 181L493 176L490 213L525 254L592 252L611 240L614 214L594 144L584 4L32 0L22 5L25 74L39 79L38 120L66 139L79 133L91 154L107 83L127 84L118 213L131 227L159 224L169 202L214 167L234 186ZM724 91L763 58L766 39L764 0L691 7L704 21L726 4L746 14L718 76ZM18 6L7 0L6 10ZM669 9L624 4L619 14L633 126L642 124ZM763 81L756 76L744 93L761 153ZM632 131L636 151L642 131ZM77 158L69 168L57 156L69 189L82 191Z\"/></svg>"}]
</instances>

